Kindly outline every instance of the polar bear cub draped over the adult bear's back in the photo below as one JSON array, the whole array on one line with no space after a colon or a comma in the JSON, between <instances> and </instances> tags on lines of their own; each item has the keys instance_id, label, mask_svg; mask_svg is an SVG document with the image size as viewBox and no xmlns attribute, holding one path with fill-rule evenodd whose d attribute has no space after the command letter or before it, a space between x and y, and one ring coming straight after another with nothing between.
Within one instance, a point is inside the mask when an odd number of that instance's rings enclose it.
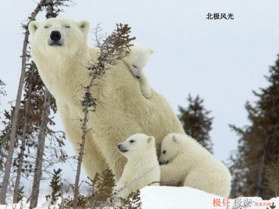
<instances>
[{"instance_id":1,"label":"polar bear cub draped over the adult bear's back","mask_svg":"<svg viewBox=\"0 0 279 209\"><path fill-rule=\"evenodd\" d=\"M122 60L128 65L133 76L139 78L140 90L143 96L148 99L151 97L151 89L146 76L143 74L143 68L154 50L140 44L134 44L130 50L129 55L123 57Z\"/></svg>"}]
</instances>

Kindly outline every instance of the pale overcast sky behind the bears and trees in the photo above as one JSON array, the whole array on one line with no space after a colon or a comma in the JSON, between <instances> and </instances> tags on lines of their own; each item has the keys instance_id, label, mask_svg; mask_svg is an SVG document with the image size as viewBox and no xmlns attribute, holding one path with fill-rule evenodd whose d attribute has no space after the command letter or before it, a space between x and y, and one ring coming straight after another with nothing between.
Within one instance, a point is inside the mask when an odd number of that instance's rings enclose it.
<instances>
[{"instance_id":1,"label":"pale overcast sky behind the bears and trees","mask_svg":"<svg viewBox=\"0 0 279 209\"><path fill-rule=\"evenodd\" d=\"M8 96L1 110L15 100L21 67L21 22L35 8L31 0L2 1L0 19L0 79ZM128 23L137 43L155 50L144 69L150 85L177 113L190 93L200 95L212 111L214 155L226 161L238 137L228 124L248 124L244 104L254 101L252 90L267 85L264 75L279 52L279 1L80 0L65 8L61 18L86 19L110 33L115 23ZM233 20L207 20L207 13L232 13ZM42 21L45 14L38 16ZM88 43L93 45L93 34ZM59 117L56 121L61 127ZM72 153L67 143L67 150ZM62 166L63 168L63 166ZM71 169L65 166L65 169ZM64 170L65 171L65 170ZM69 173L65 171L70 175ZM73 175L73 174L72 174Z\"/></svg>"}]
</instances>

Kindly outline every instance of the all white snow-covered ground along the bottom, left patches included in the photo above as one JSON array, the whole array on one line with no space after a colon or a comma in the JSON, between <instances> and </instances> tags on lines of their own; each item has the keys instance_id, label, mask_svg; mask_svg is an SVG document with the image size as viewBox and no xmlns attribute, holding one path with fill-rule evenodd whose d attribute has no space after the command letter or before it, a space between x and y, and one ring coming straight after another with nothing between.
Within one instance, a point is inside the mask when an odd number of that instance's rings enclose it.
<instances>
[{"instance_id":1,"label":"all white snow-covered ground along the bottom, left patches included","mask_svg":"<svg viewBox=\"0 0 279 209\"><path fill-rule=\"evenodd\" d=\"M64 195L68 196L69 194ZM226 199L190 187L144 187L141 190L141 200L142 209L270 209L267 206L273 202L277 206L276 208L279 208L279 197L270 200L262 200L260 197ZM24 204L24 201L22 204L22 208L29 206ZM0 209L15 209L20 208L20 205L21 203L11 204L9 202L7 205L0 205ZM47 209L48 207L49 203L45 201L45 194L40 194L37 209ZM58 207L56 206L56 208Z\"/></svg>"}]
</instances>

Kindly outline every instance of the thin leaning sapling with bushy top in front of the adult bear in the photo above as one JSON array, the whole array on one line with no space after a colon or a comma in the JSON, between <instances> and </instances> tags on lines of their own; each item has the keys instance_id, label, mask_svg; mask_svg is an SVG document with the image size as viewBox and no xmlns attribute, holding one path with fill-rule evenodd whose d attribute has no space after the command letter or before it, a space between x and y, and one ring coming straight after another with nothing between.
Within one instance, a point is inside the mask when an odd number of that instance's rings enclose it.
<instances>
[{"instance_id":1,"label":"thin leaning sapling with bushy top in front of the adult bear","mask_svg":"<svg viewBox=\"0 0 279 209\"><path fill-rule=\"evenodd\" d=\"M130 41L135 38L129 38L130 28L128 25L116 24L117 28L111 35L109 35L105 40L102 41L103 35L99 35L101 28L99 25L95 28L96 35L96 47L100 49L100 56L97 61L93 61L90 65L89 63L89 76L91 77L88 86L85 88L85 95L82 104L82 111L84 112L84 118L82 123L82 143L80 144L79 156L78 156L78 165L77 173L75 180L75 190L74 190L74 200L73 200L73 209L77 208L78 197L79 197L79 177L81 170L81 163L85 145L85 136L86 136L86 125L88 122L88 113L89 111L96 111L96 99L92 97L91 88L94 85L96 78L101 77L105 74L105 71L109 69L107 64L115 64L118 59L123 58L129 53L129 47L131 46ZM91 108L89 110L89 108Z\"/></svg>"}]
</instances>

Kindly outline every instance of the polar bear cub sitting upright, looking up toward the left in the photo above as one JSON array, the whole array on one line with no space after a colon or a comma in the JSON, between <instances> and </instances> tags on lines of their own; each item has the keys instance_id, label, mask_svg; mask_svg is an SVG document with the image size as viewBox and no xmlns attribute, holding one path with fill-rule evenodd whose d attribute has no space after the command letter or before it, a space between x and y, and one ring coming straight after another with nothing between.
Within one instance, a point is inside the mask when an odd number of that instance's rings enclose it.
<instances>
[{"instance_id":1,"label":"polar bear cub sitting upright, looking up toward the left","mask_svg":"<svg viewBox=\"0 0 279 209\"><path fill-rule=\"evenodd\" d=\"M117 144L117 148L127 158L127 164L114 188L116 197L126 198L131 192L136 192L154 181L160 181L160 166L153 136L134 134Z\"/></svg>"}]
</instances>

